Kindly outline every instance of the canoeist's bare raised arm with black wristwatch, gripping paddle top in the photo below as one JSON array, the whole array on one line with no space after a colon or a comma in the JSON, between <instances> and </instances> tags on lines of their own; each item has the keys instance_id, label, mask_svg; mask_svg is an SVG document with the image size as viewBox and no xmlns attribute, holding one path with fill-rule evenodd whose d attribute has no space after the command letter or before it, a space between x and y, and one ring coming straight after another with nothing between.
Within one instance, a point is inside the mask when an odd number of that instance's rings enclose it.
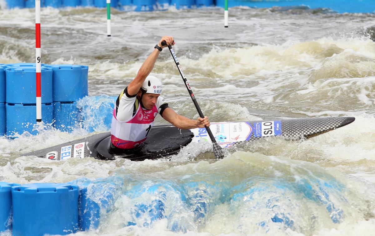
<instances>
[{"instance_id":1,"label":"canoeist's bare raised arm with black wristwatch, gripping paddle top","mask_svg":"<svg viewBox=\"0 0 375 236\"><path fill-rule=\"evenodd\" d=\"M162 41L166 41L167 45L162 46ZM160 47L160 49L164 47L168 47L169 44L174 45L173 37L171 36L163 36L162 39L159 41L157 46ZM155 46L155 49L151 53L150 56L143 62L141 68L139 68L138 74L136 77L130 82L129 86L127 86L127 93L130 96L133 96L138 93L139 89L141 88L145 78L150 74L152 69L154 68L157 56L159 56L159 49Z\"/></svg>"}]
</instances>

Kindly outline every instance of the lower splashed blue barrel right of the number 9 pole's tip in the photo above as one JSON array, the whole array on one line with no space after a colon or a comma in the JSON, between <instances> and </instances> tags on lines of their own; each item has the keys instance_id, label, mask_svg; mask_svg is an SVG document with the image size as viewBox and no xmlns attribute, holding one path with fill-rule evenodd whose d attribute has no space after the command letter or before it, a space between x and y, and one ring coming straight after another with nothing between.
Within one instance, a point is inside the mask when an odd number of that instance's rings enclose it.
<instances>
[{"instance_id":1,"label":"lower splashed blue barrel right of the number 9 pole's tip","mask_svg":"<svg viewBox=\"0 0 375 236\"><path fill-rule=\"evenodd\" d=\"M82 122L80 112L80 109L77 108L77 102L54 102L54 127L63 132L73 131Z\"/></svg>"}]
</instances>

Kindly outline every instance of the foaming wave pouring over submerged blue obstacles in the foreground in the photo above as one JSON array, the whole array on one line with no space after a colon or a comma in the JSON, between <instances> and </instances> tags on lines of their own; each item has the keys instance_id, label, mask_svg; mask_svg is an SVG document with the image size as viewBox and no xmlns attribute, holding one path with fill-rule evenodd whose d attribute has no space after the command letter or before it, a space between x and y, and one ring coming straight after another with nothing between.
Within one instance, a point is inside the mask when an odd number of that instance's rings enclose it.
<instances>
[{"instance_id":1,"label":"foaming wave pouring over submerged blue obstacles in the foreground","mask_svg":"<svg viewBox=\"0 0 375 236\"><path fill-rule=\"evenodd\" d=\"M100 206L95 235L329 235L369 225L375 212L368 204L374 186L310 162L249 152L148 174L125 167L103 180L71 183L89 186Z\"/></svg>"}]
</instances>

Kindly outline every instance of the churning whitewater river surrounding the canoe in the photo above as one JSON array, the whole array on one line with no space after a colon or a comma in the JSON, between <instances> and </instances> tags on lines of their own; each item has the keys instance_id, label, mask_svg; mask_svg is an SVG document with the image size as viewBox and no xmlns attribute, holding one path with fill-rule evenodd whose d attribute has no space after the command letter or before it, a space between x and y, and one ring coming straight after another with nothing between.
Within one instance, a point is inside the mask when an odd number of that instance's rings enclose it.
<instances>
[{"instance_id":1,"label":"churning whitewater river surrounding the canoe","mask_svg":"<svg viewBox=\"0 0 375 236\"><path fill-rule=\"evenodd\" d=\"M105 9L42 10L42 63L89 65L90 97L80 105L83 125L91 131L109 130L115 97L165 34L175 37L175 52L211 121L327 116L356 121L308 140L246 143L220 161L208 143L143 162L21 156L88 134L46 126L37 136L0 138L0 181L99 181L108 191L114 185L113 204L99 229L74 235L372 235L374 15L243 7L229 11L225 29L216 8L114 11L111 38L106 19ZM0 10L0 32L0 63L34 60L33 9ZM170 57L163 50L153 75L165 84L169 106L196 118ZM164 207L161 219L135 217L137 205L153 206L155 200Z\"/></svg>"}]
</instances>

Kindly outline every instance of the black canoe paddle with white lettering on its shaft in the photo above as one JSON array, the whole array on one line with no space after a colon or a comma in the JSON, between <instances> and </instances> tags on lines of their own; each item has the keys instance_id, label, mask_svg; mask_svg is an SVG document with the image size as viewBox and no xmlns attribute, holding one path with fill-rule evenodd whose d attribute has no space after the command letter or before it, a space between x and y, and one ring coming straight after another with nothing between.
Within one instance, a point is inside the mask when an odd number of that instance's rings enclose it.
<instances>
[{"instance_id":1,"label":"black canoe paddle with white lettering on its shaft","mask_svg":"<svg viewBox=\"0 0 375 236\"><path fill-rule=\"evenodd\" d=\"M166 45L166 41L162 41L162 46L165 46L165 45ZM178 70L180 71L180 75L182 77L182 80L184 81L184 84L186 86L187 91L190 94L191 100L193 100L196 111L198 111L198 114L201 118L204 118L204 115L201 111L201 108L199 108L198 102L195 99L195 96L193 94L193 91L191 90L189 82L187 82L187 80L186 80L186 76L184 74L184 71L182 70L180 62L178 62L178 60L177 60L176 54L174 53L174 51L172 49L172 46L168 45L168 49L169 49L169 52L171 52L171 55L174 59L174 62L176 63L176 66L177 66ZM214 136L213 136L213 134L210 130L210 127L207 127L207 126L204 126L204 127L206 128L208 136L210 136L211 142L213 143L213 153L215 155L215 158L216 159L222 159L224 157L224 152L223 152L222 148L217 144L217 142L216 142L216 140L215 140L215 138L214 138Z\"/></svg>"}]
</instances>

